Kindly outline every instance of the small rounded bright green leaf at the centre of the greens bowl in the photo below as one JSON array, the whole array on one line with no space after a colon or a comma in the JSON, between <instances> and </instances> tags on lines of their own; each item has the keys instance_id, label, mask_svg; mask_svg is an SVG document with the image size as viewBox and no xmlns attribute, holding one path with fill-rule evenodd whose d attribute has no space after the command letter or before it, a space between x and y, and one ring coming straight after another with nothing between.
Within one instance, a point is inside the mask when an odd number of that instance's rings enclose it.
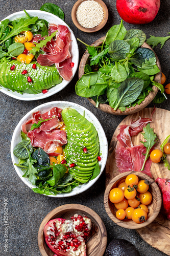
<instances>
[{"instance_id":1,"label":"small rounded bright green leaf at the centre of the greens bowl","mask_svg":"<svg viewBox=\"0 0 170 256\"><path fill-rule=\"evenodd\" d=\"M119 62L115 62L115 66L111 71L111 77L116 82L123 82L127 78L127 72L124 66L122 66Z\"/></svg>"}]
</instances>

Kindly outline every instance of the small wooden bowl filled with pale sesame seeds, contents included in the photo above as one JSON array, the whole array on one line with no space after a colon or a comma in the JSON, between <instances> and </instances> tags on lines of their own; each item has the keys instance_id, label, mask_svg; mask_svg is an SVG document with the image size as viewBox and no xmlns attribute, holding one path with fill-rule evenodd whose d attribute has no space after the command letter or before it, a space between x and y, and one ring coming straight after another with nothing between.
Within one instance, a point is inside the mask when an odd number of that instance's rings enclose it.
<instances>
[{"instance_id":1,"label":"small wooden bowl filled with pale sesame seeds, contents included","mask_svg":"<svg viewBox=\"0 0 170 256\"><path fill-rule=\"evenodd\" d=\"M87 33L102 29L108 20L108 9L102 0L78 0L72 7L75 26Z\"/></svg>"}]
</instances>

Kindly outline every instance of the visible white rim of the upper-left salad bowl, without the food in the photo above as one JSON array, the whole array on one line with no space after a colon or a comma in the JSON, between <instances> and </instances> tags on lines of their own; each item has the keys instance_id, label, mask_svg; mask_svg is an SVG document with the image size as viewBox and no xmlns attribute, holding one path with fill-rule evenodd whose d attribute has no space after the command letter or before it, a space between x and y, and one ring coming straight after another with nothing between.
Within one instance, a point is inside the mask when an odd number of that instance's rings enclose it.
<instances>
[{"instance_id":1,"label":"visible white rim of the upper-left salad bowl, without the food","mask_svg":"<svg viewBox=\"0 0 170 256\"><path fill-rule=\"evenodd\" d=\"M49 23L54 23L56 25L65 25L67 26L67 24L65 22L63 22L63 20L59 17L57 17L54 14L48 13L48 12L44 12L44 11L39 11L39 10L27 10L28 14L30 16L38 16L38 18L42 18L47 20L47 22ZM16 18L25 16L25 12L21 11L21 12L15 12L11 15L9 15L8 18L9 20L14 20ZM6 19L5 18L5 19ZM4 20L4 19L3 19ZM68 27L68 26L67 26ZM74 35L74 33L72 32L72 30L68 27L69 31L70 31L70 39L71 39L71 45L70 45L70 52L71 52L71 56L72 56L72 62L75 63L74 68L72 68L72 78L74 77L74 75L76 74L77 68L78 68L78 63L79 63L79 48L78 48L78 44L77 44L77 40L76 37ZM39 94L28 94L28 93L17 93L17 92L12 92L11 90L8 90L4 87L0 87L0 91L15 98L15 99L19 99L19 100L39 100L39 99L44 99L47 98L49 96L54 95L55 93L60 92L64 87L67 86L67 84L70 82L66 81L66 80L62 80L61 83L57 84L55 87L51 88L48 90L47 93L43 94L43 93L39 93Z\"/></svg>"}]
</instances>

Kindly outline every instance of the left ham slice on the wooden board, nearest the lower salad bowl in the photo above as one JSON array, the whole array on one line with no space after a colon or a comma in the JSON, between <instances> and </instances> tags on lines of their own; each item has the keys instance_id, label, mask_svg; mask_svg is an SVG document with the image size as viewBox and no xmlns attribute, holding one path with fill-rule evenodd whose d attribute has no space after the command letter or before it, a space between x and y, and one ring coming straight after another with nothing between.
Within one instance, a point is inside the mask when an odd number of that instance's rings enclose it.
<instances>
[{"instance_id":1,"label":"left ham slice on the wooden board, nearest the lower salad bowl","mask_svg":"<svg viewBox=\"0 0 170 256\"><path fill-rule=\"evenodd\" d=\"M117 142L116 145L115 158L117 170L119 173L125 173L133 170L130 152L125 146L122 146L119 142Z\"/></svg>"}]
</instances>

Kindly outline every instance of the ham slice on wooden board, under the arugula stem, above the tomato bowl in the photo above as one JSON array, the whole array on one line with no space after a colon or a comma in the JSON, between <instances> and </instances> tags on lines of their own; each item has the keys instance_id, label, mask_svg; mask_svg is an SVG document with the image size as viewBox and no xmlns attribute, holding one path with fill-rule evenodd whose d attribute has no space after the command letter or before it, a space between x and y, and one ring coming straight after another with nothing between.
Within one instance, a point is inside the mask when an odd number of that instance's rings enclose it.
<instances>
[{"instance_id":1,"label":"ham slice on wooden board, under the arugula stem, above the tomato bowl","mask_svg":"<svg viewBox=\"0 0 170 256\"><path fill-rule=\"evenodd\" d=\"M142 168L143 162L144 162L144 154L146 153L146 148L143 144L141 145L136 145L133 147L128 147L128 151L130 152L130 156L132 159L132 165L134 172L140 172L140 169ZM145 165L144 165L144 170L142 170L142 173L147 174L152 178L152 174L150 171L152 161L150 158L147 159Z\"/></svg>"}]
</instances>

